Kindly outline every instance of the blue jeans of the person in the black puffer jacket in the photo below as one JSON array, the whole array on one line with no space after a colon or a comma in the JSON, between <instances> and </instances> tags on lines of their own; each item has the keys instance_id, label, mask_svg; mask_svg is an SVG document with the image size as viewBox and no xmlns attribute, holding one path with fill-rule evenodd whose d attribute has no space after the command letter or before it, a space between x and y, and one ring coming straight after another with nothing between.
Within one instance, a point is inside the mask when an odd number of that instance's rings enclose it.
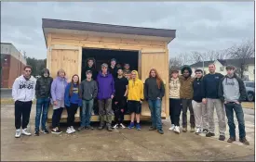
<instances>
[{"instance_id":1,"label":"blue jeans of the person in the black puffer jacket","mask_svg":"<svg viewBox=\"0 0 256 162\"><path fill-rule=\"evenodd\" d=\"M49 107L50 99L47 98L37 98L36 100L36 114L35 114L35 131L39 131L40 126L40 119L42 114L42 120L41 120L41 129L46 130L46 122L47 122L47 113L48 113L48 107Z\"/></svg>"}]
</instances>

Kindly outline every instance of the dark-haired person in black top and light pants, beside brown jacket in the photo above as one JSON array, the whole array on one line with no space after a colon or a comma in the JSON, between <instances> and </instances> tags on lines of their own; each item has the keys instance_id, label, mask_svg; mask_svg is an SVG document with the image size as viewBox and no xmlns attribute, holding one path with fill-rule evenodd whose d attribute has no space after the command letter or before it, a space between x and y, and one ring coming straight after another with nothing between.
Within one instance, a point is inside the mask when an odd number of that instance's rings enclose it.
<instances>
[{"instance_id":1,"label":"dark-haired person in black top and light pants, beside brown jacket","mask_svg":"<svg viewBox=\"0 0 256 162\"><path fill-rule=\"evenodd\" d=\"M193 101L192 106L195 115L195 134L201 132L208 133L208 115L206 111L206 105L202 103L203 99L203 70L195 70L195 81L193 82Z\"/></svg>"}]
</instances>

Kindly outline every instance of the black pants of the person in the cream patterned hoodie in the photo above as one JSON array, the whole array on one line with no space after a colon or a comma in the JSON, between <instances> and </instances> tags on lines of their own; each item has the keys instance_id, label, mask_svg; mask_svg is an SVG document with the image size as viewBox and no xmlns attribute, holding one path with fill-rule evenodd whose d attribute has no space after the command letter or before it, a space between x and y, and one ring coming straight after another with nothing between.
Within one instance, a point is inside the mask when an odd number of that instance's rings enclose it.
<instances>
[{"instance_id":1,"label":"black pants of the person in the cream patterned hoodie","mask_svg":"<svg viewBox=\"0 0 256 162\"><path fill-rule=\"evenodd\" d=\"M180 116L182 112L182 100L169 98L169 116L171 124L180 126Z\"/></svg>"}]
</instances>

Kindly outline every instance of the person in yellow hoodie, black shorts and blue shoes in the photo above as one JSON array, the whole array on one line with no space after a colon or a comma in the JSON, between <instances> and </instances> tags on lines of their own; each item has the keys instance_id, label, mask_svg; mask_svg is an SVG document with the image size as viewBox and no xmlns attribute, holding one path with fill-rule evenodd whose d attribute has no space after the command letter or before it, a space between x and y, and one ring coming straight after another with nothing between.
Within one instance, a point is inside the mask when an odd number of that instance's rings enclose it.
<instances>
[{"instance_id":1,"label":"person in yellow hoodie, black shorts and blue shoes","mask_svg":"<svg viewBox=\"0 0 256 162\"><path fill-rule=\"evenodd\" d=\"M139 79L138 71L131 71L131 79L128 81L128 109L131 113L128 129L134 128L134 117L136 115L136 129L141 130L141 104L144 99L143 82Z\"/></svg>"}]
</instances>

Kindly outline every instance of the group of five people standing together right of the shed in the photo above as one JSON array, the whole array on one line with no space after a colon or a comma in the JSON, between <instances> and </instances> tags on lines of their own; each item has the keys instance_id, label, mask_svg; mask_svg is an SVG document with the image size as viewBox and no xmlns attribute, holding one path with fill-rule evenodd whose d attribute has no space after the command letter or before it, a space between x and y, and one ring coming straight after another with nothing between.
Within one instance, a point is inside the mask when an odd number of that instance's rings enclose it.
<instances>
[{"instance_id":1,"label":"group of five people standing together right of the shed","mask_svg":"<svg viewBox=\"0 0 256 162\"><path fill-rule=\"evenodd\" d=\"M215 72L215 65L209 64L209 74L203 76L201 69L188 66L171 69L169 81L170 131L180 133L180 115L182 113L182 131L187 131L187 109L190 111L190 131L195 134L206 133L206 137L215 136L214 108L216 109L220 136L225 140L226 122L228 119L230 138L228 143L236 141L234 111L238 121L239 141L249 144L246 139L245 121L241 102L247 98L244 82L236 75L235 67L226 67L227 74Z\"/></svg>"}]
</instances>

